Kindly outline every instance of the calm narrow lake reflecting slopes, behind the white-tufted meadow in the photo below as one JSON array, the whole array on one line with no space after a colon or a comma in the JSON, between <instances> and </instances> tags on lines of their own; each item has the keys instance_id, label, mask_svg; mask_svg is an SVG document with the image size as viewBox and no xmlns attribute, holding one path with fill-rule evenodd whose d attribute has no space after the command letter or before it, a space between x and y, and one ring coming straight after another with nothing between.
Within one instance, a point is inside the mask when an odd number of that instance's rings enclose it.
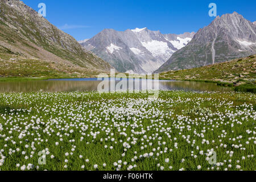
<instances>
[{"instance_id":1,"label":"calm narrow lake reflecting slopes, behind the white-tufted meadow","mask_svg":"<svg viewBox=\"0 0 256 182\"><path fill-rule=\"evenodd\" d=\"M109 83L113 83L112 78ZM117 78L118 79L118 78ZM137 85L136 90L147 88L147 80L144 79L127 79L128 82L133 82L133 88ZM154 81L152 87L154 89ZM155 80L159 81L160 90L192 90L192 91L230 91L231 88L217 86L217 84L207 82L192 82L192 81L171 81L171 80ZM97 91L97 78L75 78L75 79L56 79L56 80L36 80L36 81L0 81L0 92L72 92L72 91ZM115 81L118 84L119 80ZM139 88L138 88L138 85ZM143 89L144 90L144 89Z\"/></svg>"}]
</instances>

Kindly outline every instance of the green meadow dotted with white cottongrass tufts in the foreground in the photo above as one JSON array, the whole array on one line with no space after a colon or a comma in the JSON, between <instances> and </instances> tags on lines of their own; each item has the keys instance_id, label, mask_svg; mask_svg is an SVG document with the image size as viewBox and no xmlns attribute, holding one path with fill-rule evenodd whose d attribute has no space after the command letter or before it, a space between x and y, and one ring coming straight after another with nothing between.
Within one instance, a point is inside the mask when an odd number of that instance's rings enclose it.
<instances>
[{"instance_id":1,"label":"green meadow dotted with white cottongrass tufts in the foreground","mask_svg":"<svg viewBox=\"0 0 256 182\"><path fill-rule=\"evenodd\" d=\"M255 99L236 92L168 91L158 100L146 93L1 93L0 169L115 170L122 160L121 170L255 170ZM211 149L217 166L206 160ZM49 154L39 165L43 150Z\"/></svg>"}]
</instances>

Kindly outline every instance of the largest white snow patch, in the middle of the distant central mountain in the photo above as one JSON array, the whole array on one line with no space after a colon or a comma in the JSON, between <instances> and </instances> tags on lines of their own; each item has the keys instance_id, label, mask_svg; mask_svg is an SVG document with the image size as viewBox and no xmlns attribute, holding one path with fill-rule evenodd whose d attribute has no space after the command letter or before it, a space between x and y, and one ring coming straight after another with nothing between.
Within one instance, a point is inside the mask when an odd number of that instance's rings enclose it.
<instances>
[{"instance_id":1,"label":"largest white snow patch, in the middle of the distant central mountain","mask_svg":"<svg viewBox=\"0 0 256 182\"><path fill-rule=\"evenodd\" d=\"M172 55L174 51L168 47L167 42L152 40L151 42L142 42L142 45L152 53L153 56Z\"/></svg>"}]
</instances>

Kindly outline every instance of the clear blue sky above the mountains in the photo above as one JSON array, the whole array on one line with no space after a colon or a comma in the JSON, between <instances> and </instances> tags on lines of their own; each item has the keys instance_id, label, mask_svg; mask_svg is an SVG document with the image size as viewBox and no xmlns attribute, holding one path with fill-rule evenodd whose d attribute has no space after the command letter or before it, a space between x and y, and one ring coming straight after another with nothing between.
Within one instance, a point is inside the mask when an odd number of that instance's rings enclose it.
<instances>
[{"instance_id":1,"label":"clear blue sky above the mountains","mask_svg":"<svg viewBox=\"0 0 256 182\"><path fill-rule=\"evenodd\" d=\"M124 31L147 27L163 34L198 31L214 17L208 15L209 3L216 3L217 15L242 14L256 21L255 0L23 0L38 11L46 4L46 18L77 40L92 38L104 28Z\"/></svg>"}]
</instances>

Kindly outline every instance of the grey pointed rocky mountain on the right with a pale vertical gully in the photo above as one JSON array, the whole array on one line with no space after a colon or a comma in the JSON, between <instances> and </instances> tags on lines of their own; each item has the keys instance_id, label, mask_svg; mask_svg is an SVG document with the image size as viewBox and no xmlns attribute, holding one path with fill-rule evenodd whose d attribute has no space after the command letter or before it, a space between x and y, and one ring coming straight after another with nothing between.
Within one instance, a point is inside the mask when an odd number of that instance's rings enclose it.
<instances>
[{"instance_id":1,"label":"grey pointed rocky mountain on the right with a pale vertical gully","mask_svg":"<svg viewBox=\"0 0 256 182\"><path fill-rule=\"evenodd\" d=\"M217 16L155 73L203 67L256 53L256 24L234 12Z\"/></svg>"}]
</instances>

